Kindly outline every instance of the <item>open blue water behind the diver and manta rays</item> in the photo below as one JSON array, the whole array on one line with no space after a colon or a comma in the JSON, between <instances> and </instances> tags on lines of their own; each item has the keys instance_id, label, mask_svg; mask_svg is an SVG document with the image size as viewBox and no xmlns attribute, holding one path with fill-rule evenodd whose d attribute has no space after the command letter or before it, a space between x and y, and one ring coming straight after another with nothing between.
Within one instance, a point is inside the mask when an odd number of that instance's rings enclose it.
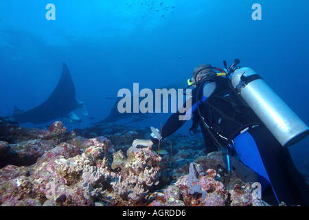
<instances>
[{"instance_id":1,"label":"open blue water behind the diver and manta rays","mask_svg":"<svg viewBox=\"0 0 309 220\"><path fill-rule=\"evenodd\" d=\"M56 20L47 21L47 3L56 6ZM262 6L260 21L251 18L254 3ZM223 67L239 58L309 124L308 8L305 0L1 0L0 115L44 102L62 62L89 111L73 111L83 122L67 124L71 130L106 118L114 104L106 98L119 89L163 87L201 63ZM159 128L168 116L128 125ZM298 167L308 161L308 145L309 137L290 147Z\"/></svg>"}]
</instances>

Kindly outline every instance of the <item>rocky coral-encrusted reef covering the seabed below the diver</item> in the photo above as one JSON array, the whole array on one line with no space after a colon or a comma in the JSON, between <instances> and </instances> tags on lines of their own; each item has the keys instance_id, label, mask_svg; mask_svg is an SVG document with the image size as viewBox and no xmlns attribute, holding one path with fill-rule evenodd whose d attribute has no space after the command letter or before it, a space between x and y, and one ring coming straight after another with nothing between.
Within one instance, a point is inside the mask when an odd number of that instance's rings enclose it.
<instances>
[{"instance_id":1,"label":"rocky coral-encrusted reef covering the seabed below the diver","mask_svg":"<svg viewBox=\"0 0 309 220\"><path fill-rule=\"evenodd\" d=\"M159 155L131 146L150 129L9 122L0 120L1 206L268 206L201 138L171 135Z\"/></svg>"}]
</instances>

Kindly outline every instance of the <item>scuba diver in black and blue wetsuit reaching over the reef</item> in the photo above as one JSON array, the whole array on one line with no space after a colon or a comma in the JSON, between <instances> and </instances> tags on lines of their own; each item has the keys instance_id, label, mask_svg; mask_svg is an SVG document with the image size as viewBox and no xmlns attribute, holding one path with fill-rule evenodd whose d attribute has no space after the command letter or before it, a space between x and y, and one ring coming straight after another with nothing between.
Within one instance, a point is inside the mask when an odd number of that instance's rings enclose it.
<instances>
[{"instance_id":1,"label":"scuba diver in black and blue wetsuit reaching over the reef","mask_svg":"<svg viewBox=\"0 0 309 220\"><path fill-rule=\"evenodd\" d=\"M309 186L288 151L288 146L309 134L308 126L258 74L238 67L239 62L236 59L227 68L224 61L224 70L210 64L195 67L188 80L195 87L190 96L192 111L177 111L161 133L152 128L152 139L134 140L133 146L158 144L193 115L190 133L200 126L207 152L225 151L232 170L243 181L260 183L264 201L273 206L282 201L287 206L309 206ZM185 115L185 120L179 120L179 115ZM236 152L242 163L233 157Z\"/></svg>"}]
</instances>

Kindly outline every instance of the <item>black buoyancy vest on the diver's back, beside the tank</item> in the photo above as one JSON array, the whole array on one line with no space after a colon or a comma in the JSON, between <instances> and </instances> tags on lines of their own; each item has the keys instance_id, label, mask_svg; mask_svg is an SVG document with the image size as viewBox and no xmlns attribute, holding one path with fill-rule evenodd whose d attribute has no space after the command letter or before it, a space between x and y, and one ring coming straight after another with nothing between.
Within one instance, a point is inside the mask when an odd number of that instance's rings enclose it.
<instances>
[{"instance_id":1,"label":"black buoyancy vest on the diver's back, beside the tank","mask_svg":"<svg viewBox=\"0 0 309 220\"><path fill-rule=\"evenodd\" d=\"M218 137L221 144L229 144L244 129L262 125L251 108L231 90L228 78L218 77L214 81L216 89L203 104L198 105L201 115L194 114L190 133L196 133L198 126L203 124ZM202 87L197 88L198 100L203 97Z\"/></svg>"}]
</instances>

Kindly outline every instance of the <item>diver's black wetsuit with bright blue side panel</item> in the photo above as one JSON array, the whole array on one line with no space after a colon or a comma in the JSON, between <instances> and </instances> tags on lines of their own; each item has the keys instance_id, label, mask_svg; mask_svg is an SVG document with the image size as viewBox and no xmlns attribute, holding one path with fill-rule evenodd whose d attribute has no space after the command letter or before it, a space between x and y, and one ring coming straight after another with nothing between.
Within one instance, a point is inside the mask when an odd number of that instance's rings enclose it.
<instances>
[{"instance_id":1,"label":"diver's black wetsuit with bright blue side panel","mask_svg":"<svg viewBox=\"0 0 309 220\"><path fill-rule=\"evenodd\" d=\"M309 186L293 164L288 148L279 144L255 113L241 104L241 100L235 97L233 91L229 89L225 78L218 78L212 85L214 83L216 89L208 89L207 91L208 85L205 85L204 92L199 97L199 100L202 99L201 96L207 100L199 105L203 118L208 125L210 124L216 129L216 132L210 129L215 136L216 133L220 133L227 137L227 140L225 140L217 135L222 146L233 140L233 148L237 151L242 162L254 170L260 178L263 190L262 199L274 206L277 206L281 201L284 201L288 206L309 206ZM198 123L197 125L201 127L207 151L209 153L218 151L218 147L214 144L207 130L201 124L201 121L198 121L200 116L194 109L197 90L198 87L192 90L193 122L194 124ZM209 91L211 91L211 94L209 94ZM226 97L233 97L235 102L230 98L224 102L223 100ZM171 115L162 128L161 137L168 137L183 125L185 121L179 120L179 115L185 115L185 113L177 111ZM220 118L219 122L218 118ZM238 124L238 121L241 123ZM249 124L250 126L248 126ZM252 128L253 124L259 126ZM240 134L240 131L247 126L250 129ZM152 138L152 142L157 144L159 140Z\"/></svg>"}]
</instances>

